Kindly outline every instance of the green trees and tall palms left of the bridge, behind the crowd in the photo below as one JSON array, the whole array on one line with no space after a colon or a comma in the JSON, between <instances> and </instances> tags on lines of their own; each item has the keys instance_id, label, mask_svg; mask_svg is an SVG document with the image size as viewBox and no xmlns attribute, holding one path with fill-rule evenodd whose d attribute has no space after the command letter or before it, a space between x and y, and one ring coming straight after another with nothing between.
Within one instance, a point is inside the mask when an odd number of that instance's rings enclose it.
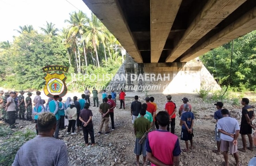
<instances>
[{"instance_id":1,"label":"green trees and tall palms left of the bridge, behind the crowd","mask_svg":"<svg viewBox=\"0 0 256 166\"><path fill-rule=\"evenodd\" d=\"M76 89L83 91L85 86L109 83L84 75L99 74L102 79L103 74L115 74L124 61L123 47L93 13L88 17L81 11L73 12L63 21L69 23L68 29L59 30L46 22L45 27L40 27L44 34L40 34L32 25L25 25L16 30L20 35L14 37L13 43L0 42L1 87L42 89L46 76L42 68L49 65L69 67L65 73L69 89L79 85Z\"/></svg>"}]
</instances>

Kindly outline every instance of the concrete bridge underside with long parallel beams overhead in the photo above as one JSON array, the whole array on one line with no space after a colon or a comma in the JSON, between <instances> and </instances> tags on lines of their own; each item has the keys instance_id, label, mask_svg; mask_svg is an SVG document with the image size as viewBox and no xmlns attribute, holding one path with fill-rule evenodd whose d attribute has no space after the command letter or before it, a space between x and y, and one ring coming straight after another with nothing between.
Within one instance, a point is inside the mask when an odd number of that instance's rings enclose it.
<instances>
[{"instance_id":1,"label":"concrete bridge underside with long parallel beams overhead","mask_svg":"<svg viewBox=\"0 0 256 166\"><path fill-rule=\"evenodd\" d=\"M256 0L83 0L136 63L188 62L256 29Z\"/></svg>"}]
</instances>

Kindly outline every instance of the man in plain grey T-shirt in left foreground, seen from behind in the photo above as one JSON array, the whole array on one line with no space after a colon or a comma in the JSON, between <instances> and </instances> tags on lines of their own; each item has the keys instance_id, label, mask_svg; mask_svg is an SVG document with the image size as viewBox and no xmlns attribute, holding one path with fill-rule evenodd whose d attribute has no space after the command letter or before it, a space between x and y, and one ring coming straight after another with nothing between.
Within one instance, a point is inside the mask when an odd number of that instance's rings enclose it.
<instances>
[{"instance_id":1,"label":"man in plain grey T-shirt in left foreground, seen from behind","mask_svg":"<svg viewBox=\"0 0 256 166\"><path fill-rule=\"evenodd\" d=\"M68 166L65 142L52 137L56 117L44 112L37 119L38 136L27 141L17 152L12 166Z\"/></svg>"}]
</instances>

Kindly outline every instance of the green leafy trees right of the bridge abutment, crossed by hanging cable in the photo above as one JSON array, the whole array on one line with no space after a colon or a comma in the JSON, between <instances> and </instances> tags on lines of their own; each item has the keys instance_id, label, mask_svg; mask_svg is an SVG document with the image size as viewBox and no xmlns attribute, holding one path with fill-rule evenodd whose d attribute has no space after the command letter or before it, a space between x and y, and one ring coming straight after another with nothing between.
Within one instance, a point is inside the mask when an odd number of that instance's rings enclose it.
<instances>
[{"instance_id":1,"label":"green leafy trees right of the bridge abutment, crossed by hanging cable","mask_svg":"<svg viewBox=\"0 0 256 166\"><path fill-rule=\"evenodd\" d=\"M222 87L228 85L231 50L232 41L199 57ZM232 61L230 90L256 92L256 31L234 40Z\"/></svg>"}]
</instances>

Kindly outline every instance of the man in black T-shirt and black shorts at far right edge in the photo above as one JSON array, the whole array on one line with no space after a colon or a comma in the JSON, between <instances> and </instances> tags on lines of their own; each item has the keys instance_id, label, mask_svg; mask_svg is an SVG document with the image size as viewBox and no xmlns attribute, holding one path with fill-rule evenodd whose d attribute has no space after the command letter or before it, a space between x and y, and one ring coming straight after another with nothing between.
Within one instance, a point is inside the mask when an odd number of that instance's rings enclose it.
<instances>
[{"instance_id":1,"label":"man in black T-shirt and black shorts at far right edge","mask_svg":"<svg viewBox=\"0 0 256 166\"><path fill-rule=\"evenodd\" d=\"M242 136L243 148L239 148L237 150L245 152L247 149L253 150L253 138L252 138L252 121L255 119L255 114L253 108L248 105L249 99L242 98L241 104L244 106L242 108L242 118L241 118L241 126L240 126L240 134ZM250 147L246 147L246 137L248 136Z\"/></svg>"}]
</instances>

